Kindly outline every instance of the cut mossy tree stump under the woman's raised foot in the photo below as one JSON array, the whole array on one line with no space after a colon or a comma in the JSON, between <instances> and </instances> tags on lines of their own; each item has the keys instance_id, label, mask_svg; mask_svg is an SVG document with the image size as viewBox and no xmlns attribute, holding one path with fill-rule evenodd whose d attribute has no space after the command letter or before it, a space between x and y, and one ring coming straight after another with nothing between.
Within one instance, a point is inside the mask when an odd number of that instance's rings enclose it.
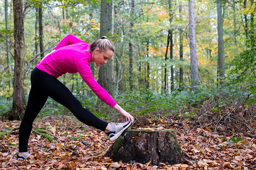
<instances>
[{"instance_id":1,"label":"cut mossy tree stump under the woman's raised foot","mask_svg":"<svg viewBox=\"0 0 256 170\"><path fill-rule=\"evenodd\" d=\"M106 152L113 161L168 165L183 163L183 152L174 130L126 130Z\"/></svg>"}]
</instances>

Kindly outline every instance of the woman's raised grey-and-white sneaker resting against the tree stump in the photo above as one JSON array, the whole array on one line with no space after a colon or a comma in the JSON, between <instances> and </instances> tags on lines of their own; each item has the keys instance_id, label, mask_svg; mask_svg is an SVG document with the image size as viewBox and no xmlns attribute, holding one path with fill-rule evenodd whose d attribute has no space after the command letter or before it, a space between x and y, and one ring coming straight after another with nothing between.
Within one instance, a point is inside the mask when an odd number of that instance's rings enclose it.
<instances>
[{"instance_id":1,"label":"woman's raised grey-and-white sneaker resting against the tree stump","mask_svg":"<svg viewBox=\"0 0 256 170\"><path fill-rule=\"evenodd\" d=\"M110 131L106 134L109 135L110 142L115 141L127 128L131 126L131 121L123 122L123 123L110 123L112 126Z\"/></svg>"}]
</instances>

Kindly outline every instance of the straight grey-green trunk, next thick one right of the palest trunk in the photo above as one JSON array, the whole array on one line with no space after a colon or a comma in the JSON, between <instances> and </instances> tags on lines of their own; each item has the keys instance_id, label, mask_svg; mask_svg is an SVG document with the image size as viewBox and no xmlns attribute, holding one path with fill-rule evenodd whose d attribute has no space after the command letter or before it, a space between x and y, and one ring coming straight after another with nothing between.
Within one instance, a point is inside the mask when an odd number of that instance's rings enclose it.
<instances>
[{"instance_id":1,"label":"straight grey-green trunk, next thick one right of the palest trunk","mask_svg":"<svg viewBox=\"0 0 256 170\"><path fill-rule=\"evenodd\" d=\"M224 56L224 40L223 40L223 21L222 21L222 3L217 0L217 18L218 18L218 70L220 84L224 84L225 76L225 56Z\"/></svg>"}]
</instances>

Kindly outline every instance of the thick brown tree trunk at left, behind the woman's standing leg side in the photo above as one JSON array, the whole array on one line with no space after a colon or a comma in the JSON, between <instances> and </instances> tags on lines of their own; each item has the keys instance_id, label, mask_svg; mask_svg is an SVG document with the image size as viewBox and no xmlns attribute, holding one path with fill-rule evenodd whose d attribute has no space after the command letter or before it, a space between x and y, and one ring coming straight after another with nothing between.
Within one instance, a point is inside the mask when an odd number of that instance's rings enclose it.
<instances>
[{"instance_id":1,"label":"thick brown tree trunk at left, behind the woman's standing leg side","mask_svg":"<svg viewBox=\"0 0 256 170\"><path fill-rule=\"evenodd\" d=\"M24 66L25 42L24 24L22 18L22 0L13 1L14 12L14 80L13 80L13 108L9 112L9 120L22 118L24 111Z\"/></svg>"}]
</instances>

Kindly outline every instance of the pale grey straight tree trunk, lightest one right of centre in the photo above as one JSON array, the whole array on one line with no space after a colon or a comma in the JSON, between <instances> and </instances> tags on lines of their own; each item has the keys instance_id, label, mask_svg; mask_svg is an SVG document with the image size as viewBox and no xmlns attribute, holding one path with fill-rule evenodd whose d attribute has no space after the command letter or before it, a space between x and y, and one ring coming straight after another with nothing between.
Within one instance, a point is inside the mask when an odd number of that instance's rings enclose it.
<instances>
[{"instance_id":1,"label":"pale grey straight tree trunk, lightest one right of centre","mask_svg":"<svg viewBox=\"0 0 256 170\"><path fill-rule=\"evenodd\" d=\"M192 88L199 82L199 72L196 56L196 30L195 30L195 14L194 0L188 1L188 18L189 18L189 47L190 47L190 62L191 62L191 80Z\"/></svg>"}]
</instances>

